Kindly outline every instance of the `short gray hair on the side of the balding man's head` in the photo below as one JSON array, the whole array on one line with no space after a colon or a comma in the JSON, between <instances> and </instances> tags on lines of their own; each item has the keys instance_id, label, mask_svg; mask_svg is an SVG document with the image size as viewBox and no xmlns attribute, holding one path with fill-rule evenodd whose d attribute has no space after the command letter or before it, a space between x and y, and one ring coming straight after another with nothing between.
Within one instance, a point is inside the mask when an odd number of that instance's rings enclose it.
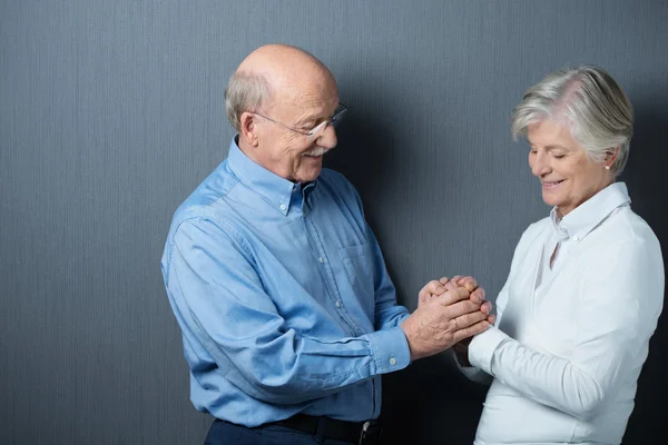
<instances>
[{"instance_id":1,"label":"short gray hair on the side of the balding man's head","mask_svg":"<svg viewBox=\"0 0 668 445\"><path fill-rule=\"evenodd\" d=\"M225 111L229 123L240 131L240 117L246 111L255 111L269 100L269 82L262 76L237 71L229 78L225 88Z\"/></svg>"}]
</instances>

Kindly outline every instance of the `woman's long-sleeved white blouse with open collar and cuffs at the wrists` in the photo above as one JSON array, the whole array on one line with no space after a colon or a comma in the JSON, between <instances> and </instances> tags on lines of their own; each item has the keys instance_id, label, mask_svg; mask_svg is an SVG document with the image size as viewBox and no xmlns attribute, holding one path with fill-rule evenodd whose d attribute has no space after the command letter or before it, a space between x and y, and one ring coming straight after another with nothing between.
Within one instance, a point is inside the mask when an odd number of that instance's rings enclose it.
<instances>
[{"instance_id":1,"label":"woman's long-sleeved white blouse with open collar and cuffs at the wrists","mask_svg":"<svg viewBox=\"0 0 668 445\"><path fill-rule=\"evenodd\" d=\"M623 182L529 226L462 368L494 377L475 444L619 444L662 300L659 241Z\"/></svg>"}]
</instances>

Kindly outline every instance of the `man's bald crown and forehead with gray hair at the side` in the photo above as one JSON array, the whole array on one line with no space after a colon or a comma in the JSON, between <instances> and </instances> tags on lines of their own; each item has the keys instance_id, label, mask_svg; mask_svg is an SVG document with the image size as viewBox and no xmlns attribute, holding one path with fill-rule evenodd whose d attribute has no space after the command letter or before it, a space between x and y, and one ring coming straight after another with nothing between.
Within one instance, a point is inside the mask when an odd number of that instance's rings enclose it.
<instances>
[{"instance_id":1,"label":"man's bald crown and forehead with gray hair at the side","mask_svg":"<svg viewBox=\"0 0 668 445\"><path fill-rule=\"evenodd\" d=\"M287 44L267 44L253 51L237 68L225 90L232 126L239 131L245 111L257 111L273 102L336 88L332 72L308 52Z\"/></svg>"}]
</instances>

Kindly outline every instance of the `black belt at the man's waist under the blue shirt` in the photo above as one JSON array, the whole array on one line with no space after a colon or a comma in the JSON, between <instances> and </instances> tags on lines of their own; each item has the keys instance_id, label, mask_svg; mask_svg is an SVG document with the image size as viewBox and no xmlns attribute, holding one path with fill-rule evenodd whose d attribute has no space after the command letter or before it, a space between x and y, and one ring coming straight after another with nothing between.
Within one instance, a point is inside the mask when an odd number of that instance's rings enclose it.
<instances>
[{"instance_id":1,"label":"black belt at the man's waist under the blue shirt","mask_svg":"<svg viewBox=\"0 0 668 445\"><path fill-rule=\"evenodd\" d=\"M324 426L321 426L321 428L324 428L323 435L335 441L352 444L377 444L381 435L381 427L373 422L345 422L306 414L295 414L284 421L272 422L263 426L281 425L303 433L316 434L321 423L324 423Z\"/></svg>"}]
</instances>

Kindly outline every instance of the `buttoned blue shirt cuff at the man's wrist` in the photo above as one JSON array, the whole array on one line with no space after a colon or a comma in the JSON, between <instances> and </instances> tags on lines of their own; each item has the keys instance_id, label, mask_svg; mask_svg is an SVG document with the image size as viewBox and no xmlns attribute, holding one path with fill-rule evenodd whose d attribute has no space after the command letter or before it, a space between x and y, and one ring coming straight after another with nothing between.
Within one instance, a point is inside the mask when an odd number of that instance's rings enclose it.
<instances>
[{"instance_id":1,"label":"buttoned blue shirt cuff at the man's wrist","mask_svg":"<svg viewBox=\"0 0 668 445\"><path fill-rule=\"evenodd\" d=\"M376 330L367 335L375 374L392 373L411 364L409 340L401 327Z\"/></svg>"}]
</instances>

